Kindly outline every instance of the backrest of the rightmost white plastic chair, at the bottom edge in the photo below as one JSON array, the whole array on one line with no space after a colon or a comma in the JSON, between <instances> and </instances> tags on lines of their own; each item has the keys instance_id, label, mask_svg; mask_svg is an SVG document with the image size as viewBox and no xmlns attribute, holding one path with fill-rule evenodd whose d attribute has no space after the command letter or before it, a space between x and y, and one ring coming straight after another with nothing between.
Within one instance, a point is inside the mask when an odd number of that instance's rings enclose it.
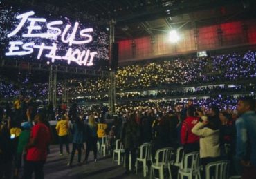
<instances>
[{"instance_id":1,"label":"backrest of the rightmost white plastic chair, at the bottom edge","mask_svg":"<svg viewBox=\"0 0 256 179\"><path fill-rule=\"evenodd\" d=\"M210 162L205 167L206 179L227 179L229 162L226 160Z\"/></svg>"}]
</instances>

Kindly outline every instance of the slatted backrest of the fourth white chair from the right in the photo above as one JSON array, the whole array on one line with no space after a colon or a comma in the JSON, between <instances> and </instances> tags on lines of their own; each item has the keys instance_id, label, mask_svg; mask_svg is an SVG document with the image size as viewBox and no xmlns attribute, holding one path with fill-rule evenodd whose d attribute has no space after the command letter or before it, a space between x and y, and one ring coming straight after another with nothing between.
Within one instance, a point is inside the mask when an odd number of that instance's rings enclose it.
<instances>
[{"instance_id":1,"label":"slatted backrest of the fourth white chair from the right","mask_svg":"<svg viewBox=\"0 0 256 179\"><path fill-rule=\"evenodd\" d=\"M156 165L162 163L163 165L167 165L170 163L172 154L174 154L174 149L172 147L165 147L162 149L158 149L156 151Z\"/></svg>"}]
</instances>

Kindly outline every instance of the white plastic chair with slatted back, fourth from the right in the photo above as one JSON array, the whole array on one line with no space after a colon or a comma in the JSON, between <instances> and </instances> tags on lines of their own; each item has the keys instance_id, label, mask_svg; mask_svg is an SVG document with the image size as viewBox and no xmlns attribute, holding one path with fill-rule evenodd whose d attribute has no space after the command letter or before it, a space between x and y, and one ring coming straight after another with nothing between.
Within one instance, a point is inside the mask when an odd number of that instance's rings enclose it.
<instances>
[{"instance_id":1,"label":"white plastic chair with slatted back, fourth from the right","mask_svg":"<svg viewBox=\"0 0 256 179\"><path fill-rule=\"evenodd\" d=\"M151 169L150 169L150 178L152 178L152 173L154 175L154 169L159 171L159 179L163 179L163 169L168 169L169 178L172 179L172 173L170 168L170 161L172 158L172 154L174 149L172 147L166 147L163 149L158 149L156 151L156 162L152 162Z\"/></svg>"}]
</instances>

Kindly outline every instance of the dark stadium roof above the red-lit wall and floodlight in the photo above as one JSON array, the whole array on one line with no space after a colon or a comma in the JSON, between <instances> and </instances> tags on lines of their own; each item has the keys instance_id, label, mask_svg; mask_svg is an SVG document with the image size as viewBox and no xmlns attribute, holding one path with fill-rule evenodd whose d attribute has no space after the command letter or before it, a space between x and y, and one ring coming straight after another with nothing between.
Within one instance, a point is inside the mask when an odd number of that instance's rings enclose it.
<instances>
[{"instance_id":1,"label":"dark stadium roof above the red-lit wall and floodlight","mask_svg":"<svg viewBox=\"0 0 256 179\"><path fill-rule=\"evenodd\" d=\"M256 17L255 0L33 0L33 3L102 25L114 19L116 40Z\"/></svg>"}]
</instances>

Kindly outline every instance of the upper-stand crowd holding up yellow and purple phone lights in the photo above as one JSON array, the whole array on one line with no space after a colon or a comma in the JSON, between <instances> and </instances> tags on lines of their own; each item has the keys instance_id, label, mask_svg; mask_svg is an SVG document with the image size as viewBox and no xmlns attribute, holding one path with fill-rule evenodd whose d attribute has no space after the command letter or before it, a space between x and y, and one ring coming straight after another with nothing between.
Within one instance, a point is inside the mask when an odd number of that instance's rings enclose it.
<instances>
[{"instance_id":1,"label":"upper-stand crowd holding up yellow and purple phone lights","mask_svg":"<svg viewBox=\"0 0 256 179\"><path fill-rule=\"evenodd\" d=\"M134 64L118 68L116 72L117 92L138 89L163 89L184 85L225 83L227 81L255 80L256 52L232 53L207 58L171 59L156 63ZM28 80L27 78L24 81ZM22 82L23 84L23 82ZM41 98L48 93L48 83L21 85L0 81L0 96L30 94ZM109 80L104 77L68 79L66 90L71 96L107 93ZM207 87L206 87L207 88ZM57 95L63 94L64 83L57 84ZM219 90L219 89L218 89ZM226 91L226 89L221 89ZM175 90L172 90L176 94ZM208 92L208 89L194 90L194 94ZM190 94L191 91L185 92ZM179 93L179 92L178 92Z\"/></svg>"}]
</instances>

